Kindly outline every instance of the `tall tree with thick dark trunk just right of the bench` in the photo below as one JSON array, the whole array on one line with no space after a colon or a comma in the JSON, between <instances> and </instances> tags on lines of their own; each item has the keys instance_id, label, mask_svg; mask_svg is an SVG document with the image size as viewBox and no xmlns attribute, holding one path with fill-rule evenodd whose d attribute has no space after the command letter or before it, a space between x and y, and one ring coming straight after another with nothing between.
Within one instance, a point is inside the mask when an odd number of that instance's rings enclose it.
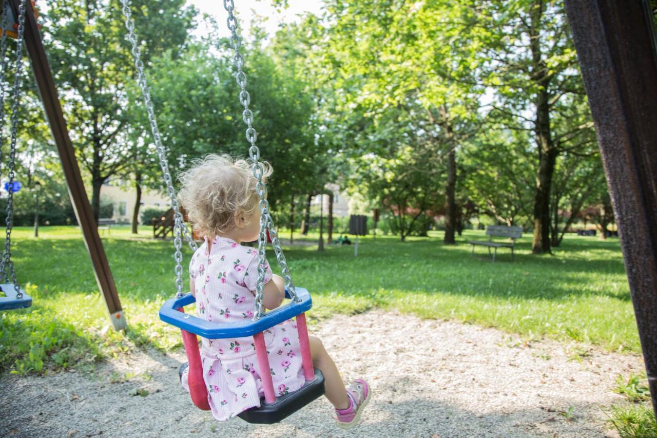
<instances>
[{"instance_id":1,"label":"tall tree with thick dark trunk just right of the bench","mask_svg":"<svg viewBox=\"0 0 657 438\"><path fill-rule=\"evenodd\" d=\"M557 158L591 144L591 116L561 1L482 1L472 34L484 84L509 129L533 134L537 160L533 253L550 252L550 199Z\"/></svg>"}]
</instances>

